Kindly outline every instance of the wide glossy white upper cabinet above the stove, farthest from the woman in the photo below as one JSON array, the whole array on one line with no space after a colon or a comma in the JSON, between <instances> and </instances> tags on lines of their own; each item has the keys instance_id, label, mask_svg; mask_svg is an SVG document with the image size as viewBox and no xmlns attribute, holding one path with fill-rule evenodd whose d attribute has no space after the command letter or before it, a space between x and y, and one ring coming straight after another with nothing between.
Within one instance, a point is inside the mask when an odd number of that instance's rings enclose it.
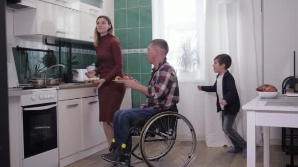
<instances>
[{"instance_id":1,"label":"wide glossy white upper cabinet above the stove, farthest from the woman","mask_svg":"<svg viewBox=\"0 0 298 167\"><path fill-rule=\"evenodd\" d=\"M37 8L14 12L14 35L47 35L80 39L80 12L52 3L38 1Z\"/></svg>"}]
</instances>

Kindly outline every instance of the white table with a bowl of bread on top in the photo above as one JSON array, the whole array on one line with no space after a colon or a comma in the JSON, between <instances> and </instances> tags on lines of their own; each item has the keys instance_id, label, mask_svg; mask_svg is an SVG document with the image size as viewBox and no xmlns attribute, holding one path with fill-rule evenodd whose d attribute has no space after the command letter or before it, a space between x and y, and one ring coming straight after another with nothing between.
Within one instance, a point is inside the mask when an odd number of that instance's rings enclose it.
<instances>
[{"instance_id":1,"label":"white table with a bowl of bread on top","mask_svg":"<svg viewBox=\"0 0 298 167\"><path fill-rule=\"evenodd\" d=\"M296 97L295 97L296 98ZM256 97L242 106L247 111L247 167L255 167L255 126L264 126L264 167L269 167L270 126L298 127L297 106L267 106Z\"/></svg>"}]
</instances>

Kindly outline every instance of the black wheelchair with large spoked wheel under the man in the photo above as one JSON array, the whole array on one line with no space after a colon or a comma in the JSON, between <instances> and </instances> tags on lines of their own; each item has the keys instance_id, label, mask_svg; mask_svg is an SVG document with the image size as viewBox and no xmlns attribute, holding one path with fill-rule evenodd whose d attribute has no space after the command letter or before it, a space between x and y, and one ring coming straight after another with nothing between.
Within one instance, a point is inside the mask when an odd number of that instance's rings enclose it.
<instances>
[{"instance_id":1,"label":"black wheelchair with large spoked wheel under the man","mask_svg":"<svg viewBox=\"0 0 298 167\"><path fill-rule=\"evenodd\" d=\"M149 167L186 167L195 154L196 132L176 108L158 110L149 117L135 117L130 127L125 143L132 137L132 149L126 153L121 150L128 167L132 167L131 155ZM120 158L114 166L118 164Z\"/></svg>"}]
</instances>

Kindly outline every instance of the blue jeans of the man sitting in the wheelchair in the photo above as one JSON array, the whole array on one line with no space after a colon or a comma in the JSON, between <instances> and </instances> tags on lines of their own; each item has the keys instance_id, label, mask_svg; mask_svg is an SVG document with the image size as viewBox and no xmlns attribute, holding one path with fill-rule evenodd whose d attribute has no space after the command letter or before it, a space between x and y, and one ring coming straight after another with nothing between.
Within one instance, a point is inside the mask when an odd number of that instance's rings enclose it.
<instances>
[{"instance_id":1,"label":"blue jeans of the man sitting in the wheelchair","mask_svg":"<svg viewBox=\"0 0 298 167\"><path fill-rule=\"evenodd\" d=\"M113 129L117 148L121 148L121 145L125 142L133 117L149 117L155 111L155 108L132 108L116 111L113 119ZM131 137L127 140L126 148L131 149Z\"/></svg>"}]
</instances>

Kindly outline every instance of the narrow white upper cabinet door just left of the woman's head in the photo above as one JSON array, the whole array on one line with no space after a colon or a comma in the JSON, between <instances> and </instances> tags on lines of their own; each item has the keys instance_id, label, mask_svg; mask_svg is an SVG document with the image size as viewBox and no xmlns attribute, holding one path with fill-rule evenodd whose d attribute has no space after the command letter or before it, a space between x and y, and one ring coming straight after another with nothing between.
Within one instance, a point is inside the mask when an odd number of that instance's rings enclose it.
<instances>
[{"instance_id":1,"label":"narrow white upper cabinet door just left of the woman's head","mask_svg":"<svg viewBox=\"0 0 298 167\"><path fill-rule=\"evenodd\" d=\"M94 42L94 30L96 27L97 16L93 14L80 13L80 39L83 41Z\"/></svg>"}]
</instances>

